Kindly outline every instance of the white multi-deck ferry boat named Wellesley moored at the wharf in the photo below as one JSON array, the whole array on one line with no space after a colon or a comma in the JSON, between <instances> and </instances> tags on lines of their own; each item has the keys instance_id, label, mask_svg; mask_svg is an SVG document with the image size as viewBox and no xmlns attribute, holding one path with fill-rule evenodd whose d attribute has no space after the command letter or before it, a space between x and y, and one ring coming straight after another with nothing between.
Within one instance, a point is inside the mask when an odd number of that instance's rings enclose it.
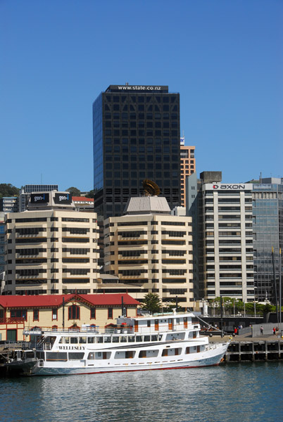
<instances>
[{"instance_id":1,"label":"white multi-deck ferry boat named Wellesley moored at the wharf","mask_svg":"<svg viewBox=\"0 0 283 422\"><path fill-rule=\"evenodd\" d=\"M194 314L119 317L101 329L25 329L35 340L34 358L23 359L25 375L64 375L153 369L181 369L220 364L229 343L208 343ZM18 362L20 364L20 362ZM19 366L19 365L18 365Z\"/></svg>"}]
</instances>

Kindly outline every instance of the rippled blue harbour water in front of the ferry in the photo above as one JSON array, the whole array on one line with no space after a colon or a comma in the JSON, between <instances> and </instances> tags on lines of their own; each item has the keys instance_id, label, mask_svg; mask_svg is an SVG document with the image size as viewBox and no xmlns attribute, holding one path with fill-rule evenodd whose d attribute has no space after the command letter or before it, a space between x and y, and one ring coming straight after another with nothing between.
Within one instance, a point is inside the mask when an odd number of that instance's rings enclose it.
<instances>
[{"instance_id":1,"label":"rippled blue harbour water in front of the ferry","mask_svg":"<svg viewBox=\"0 0 283 422\"><path fill-rule=\"evenodd\" d=\"M275 422L282 362L0 378L1 422Z\"/></svg>"}]
</instances>

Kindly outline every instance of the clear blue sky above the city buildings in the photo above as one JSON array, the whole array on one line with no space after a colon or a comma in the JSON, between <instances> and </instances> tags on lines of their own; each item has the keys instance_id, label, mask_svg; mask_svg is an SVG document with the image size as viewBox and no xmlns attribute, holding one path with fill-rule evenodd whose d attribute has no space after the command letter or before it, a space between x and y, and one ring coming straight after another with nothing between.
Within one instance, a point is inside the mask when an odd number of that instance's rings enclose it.
<instances>
[{"instance_id":1,"label":"clear blue sky above the city buildings","mask_svg":"<svg viewBox=\"0 0 283 422\"><path fill-rule=\"evenodd\" d=\"M109 84L180 92L196 168L283 177L282 0L0 0L0 183L93 186Z\"/></svg>"}]
</instances>

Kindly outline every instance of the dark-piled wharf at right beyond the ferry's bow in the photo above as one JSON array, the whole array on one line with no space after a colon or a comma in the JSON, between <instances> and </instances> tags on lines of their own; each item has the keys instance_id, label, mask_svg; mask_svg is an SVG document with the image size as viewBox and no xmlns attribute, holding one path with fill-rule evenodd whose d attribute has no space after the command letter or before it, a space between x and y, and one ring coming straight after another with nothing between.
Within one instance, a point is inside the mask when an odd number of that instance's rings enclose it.
<instances>
[{"instance_id":1,"label":"dark-piled wharf at right beyond the ferry's bow","mask_svg":"<svg viewBox=\"0 0 283 422\"><path fill-rule=\"evenodd\" d=\"M231 339L231 340L230 340ZM211 343L229 341L230 344L225 354L225 362L283 362L283 339L277 335L213 335L209 338Z\"/></svg>"}]
</instances>

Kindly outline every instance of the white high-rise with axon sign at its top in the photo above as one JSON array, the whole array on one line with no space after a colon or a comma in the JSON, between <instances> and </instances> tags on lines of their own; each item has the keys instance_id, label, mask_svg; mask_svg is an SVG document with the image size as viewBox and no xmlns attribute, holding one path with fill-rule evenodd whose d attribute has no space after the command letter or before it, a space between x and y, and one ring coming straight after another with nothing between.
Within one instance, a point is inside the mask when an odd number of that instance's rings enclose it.
<instances>
[{"instance_id":1,"label":"white high-rise with axon sign at its top","mask_svg":"<svg viewBox=\"0 0 283 422\"><path fill-rule=\"evenodd\" d=\"M227 296L253 301L253 187L222 184L221 172L203 172L197 184L191 177L188 215L194 212L198 222L201 294L206 299Z\"/></svg>"}]
</instances>

